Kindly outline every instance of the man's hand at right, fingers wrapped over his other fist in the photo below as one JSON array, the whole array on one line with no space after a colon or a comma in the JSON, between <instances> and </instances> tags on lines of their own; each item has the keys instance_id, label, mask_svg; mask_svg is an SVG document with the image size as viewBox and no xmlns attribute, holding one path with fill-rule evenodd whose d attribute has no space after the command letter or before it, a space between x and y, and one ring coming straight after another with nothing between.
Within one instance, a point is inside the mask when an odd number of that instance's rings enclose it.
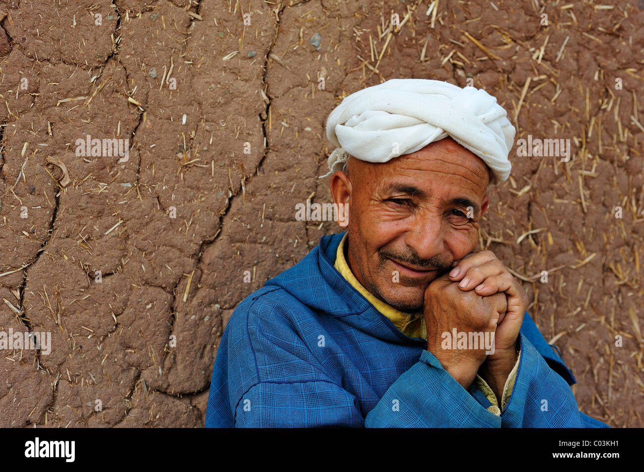
<instances>
[{"instance_id":1,"label":"man's hand at right, fingers wrapped over his other fist","mask_svg":"<svg viewBox=\"0 0 644 472\"><path fill-rule=\"evenodd\" d=\"M500 320L497 327L495 352L488 356L488 361L509 358L514 358L516 361L516 338L528 304L526 291L518 280L492 251L478 251L466 255L455 263L455 267L450 272L450 280L459 282L461 290L474 289L478 295L489 296L498 292L506 294L506 316Z\"/></svg>"}]
</instances>

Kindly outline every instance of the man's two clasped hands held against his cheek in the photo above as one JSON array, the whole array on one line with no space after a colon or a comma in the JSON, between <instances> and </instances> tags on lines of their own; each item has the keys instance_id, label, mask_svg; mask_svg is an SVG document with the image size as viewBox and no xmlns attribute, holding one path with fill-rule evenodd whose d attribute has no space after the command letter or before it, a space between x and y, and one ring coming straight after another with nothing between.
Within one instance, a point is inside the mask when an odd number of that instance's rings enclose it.
<instances>
[{"instance_id":1,"label":"man's two clasped hands held against his cheek","mask_svg":"<svg viewBox=\"0 0 644 472\"><path fill-rule=\"evenodd\" d=\"M492 251L469 253L452 266L449 274L436 278L425 290L427 349L466 390L480 374L501 404L518 355L526 292ZM446 338L454 329L464 332L468 341L492 340L493 349L476 342L452 349Z\"/></svg>"}]
</instances>

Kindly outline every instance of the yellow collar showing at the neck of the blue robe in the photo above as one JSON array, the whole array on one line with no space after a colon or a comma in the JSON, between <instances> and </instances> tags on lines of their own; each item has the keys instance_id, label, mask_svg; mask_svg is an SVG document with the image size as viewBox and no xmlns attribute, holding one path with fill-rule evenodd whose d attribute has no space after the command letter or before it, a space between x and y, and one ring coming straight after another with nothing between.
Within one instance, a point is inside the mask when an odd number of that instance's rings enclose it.
<instances>
[{"instance_id":1,"label":"yellow collar showing at the neck of the blue robe","mask_svg":"<svg viewBox=\"0 0 644 472\"><path fill-rule=\"evenodd\" d=\"M340 245L337 246L336 262L334 267L342 277L344 277L346 281L354 287L354 289L364 296L370 304L374 305L377 311L386 316L399 331L403 332L405 336L408 336L409 338L425 339L427 334L425 331L425 320L422 316L403 313L402 311L384 303L382 300L375 298L375 296L363 287L362 284L358 282L357 278L355 278L345 259L345 241L347 234L348 233L345 233L342 241L340 241Z\"/></svg>"}]
</instances>

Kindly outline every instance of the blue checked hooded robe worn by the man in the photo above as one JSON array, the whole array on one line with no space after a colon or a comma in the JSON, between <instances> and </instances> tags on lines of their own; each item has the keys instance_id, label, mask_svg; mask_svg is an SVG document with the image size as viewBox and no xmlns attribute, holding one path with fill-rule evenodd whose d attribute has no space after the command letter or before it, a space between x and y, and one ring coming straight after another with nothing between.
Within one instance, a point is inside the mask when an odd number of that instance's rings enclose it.
<instances>
[{"instance_id":1,"label":"blue checked hooded robe worn by the man","mask_svg":"<svg viewBox=\"0 0 644 472\"><path fill-rule=\"evenodd\" d=\"M526 313L515 386L500 416L379 313L334 268L325 236L232 313L206 427L607 427L578 410L573 374Z\"/></svg>"}]
</instances>

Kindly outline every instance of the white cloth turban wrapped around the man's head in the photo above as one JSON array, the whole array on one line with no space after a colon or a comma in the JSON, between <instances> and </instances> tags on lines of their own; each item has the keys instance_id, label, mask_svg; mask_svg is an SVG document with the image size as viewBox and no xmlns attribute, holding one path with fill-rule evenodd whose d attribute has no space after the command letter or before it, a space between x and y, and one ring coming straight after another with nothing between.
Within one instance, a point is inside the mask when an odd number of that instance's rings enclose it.
<instances>
[{"instance_id":1,"label":"white cloth turban wrapped around the man's head","mask_svg":"<svg viewBox=\"0 0 644 472\"><path fill-rule=\"evenodd\" d=\"M341 170L348 155L386 162L451 136L491 168L493 182L505 181L515 127L497 99L475 87L440 80L392 78L347 96L327 119L327 138L336 145L329 172ZM395 146L397 144L397 146Z\"/></svg>"}]
</instances>

